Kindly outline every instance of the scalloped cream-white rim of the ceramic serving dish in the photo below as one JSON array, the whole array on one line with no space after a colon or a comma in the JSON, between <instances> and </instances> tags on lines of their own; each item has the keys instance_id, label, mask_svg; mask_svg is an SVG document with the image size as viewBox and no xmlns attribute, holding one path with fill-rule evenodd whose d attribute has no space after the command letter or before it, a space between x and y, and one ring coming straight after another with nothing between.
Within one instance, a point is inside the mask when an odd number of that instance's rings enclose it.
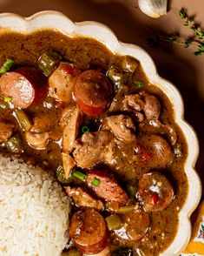
<instances>
[{"instance_id":1,"label":"scalloped cream-white rim of the ceramic serving dish","mask_svg":"<svg viewBox=\"0 0 204 256\"><path fill-rule=\"evenodd\" d=\"M103 24L90 21L73 23L68 17L56 11L38 12L31 17L20 17L10 13L0 14L0 33L8 30L30 33L43 29L59 30L69 35L69 37L75 37L76 35L93 37L102 42L102 44L105 44L110 51L137 58L140 60L150 83L160 87L170 99L174 107L175 121L181 127L188 143L188 158L185 164L185 172L188 176L189 192L186 202L179 213L179 228L174 241L161 255L173 256L179 254L188 245L191 236L189 218L201 199L201 181L194 170L199 152L198 139L192 127L183 118L184 107L179 91L177 91L173 84L159 77L155 64L147 52L135 44L119 42L113 31Z\"/></svg>"}]
</instances>

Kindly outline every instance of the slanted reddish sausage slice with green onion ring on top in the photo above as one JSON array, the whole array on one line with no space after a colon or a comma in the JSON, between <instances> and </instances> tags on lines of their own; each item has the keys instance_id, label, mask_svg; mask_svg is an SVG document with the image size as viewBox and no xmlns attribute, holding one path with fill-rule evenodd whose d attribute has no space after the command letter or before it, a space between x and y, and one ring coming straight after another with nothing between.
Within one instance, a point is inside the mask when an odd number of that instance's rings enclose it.
<instances>
[{"instance_id":1,"label":"slanted reddish sausage slice with green onion ring on top","mask_svg":"<svg viewBox=\"0 0 204 256\"><path fill-rule=\"evenodd\" d=\"M108 172L101 170L87 170L88 177L86 183L89 188L95 192L95 195L106 201L116 201L120 205L125 205L128 201L127 193L122 189L121 185ZM98 185L93 185L93 180L99 180Z\"/></svg>"}]
</instances>

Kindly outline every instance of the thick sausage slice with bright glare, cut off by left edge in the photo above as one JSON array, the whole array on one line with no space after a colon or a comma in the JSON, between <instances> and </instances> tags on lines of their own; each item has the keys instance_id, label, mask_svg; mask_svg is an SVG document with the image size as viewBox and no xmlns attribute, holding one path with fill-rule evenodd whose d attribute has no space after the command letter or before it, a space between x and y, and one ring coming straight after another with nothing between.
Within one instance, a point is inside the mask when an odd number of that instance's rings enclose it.
<instances>
[{"instance_id":1,"label":"thick sausage slice with bright glare, cut off by left edge","mask_svg":"<svg viewBox=\"0 0 204 256\"><path fill-rule=\"evenodd\" d=\"M0 77L0 91L11 97L12 103L25 109L39 104L48 93L47 79L34 67L23 67Z\"/></svg>"}]
</instances>

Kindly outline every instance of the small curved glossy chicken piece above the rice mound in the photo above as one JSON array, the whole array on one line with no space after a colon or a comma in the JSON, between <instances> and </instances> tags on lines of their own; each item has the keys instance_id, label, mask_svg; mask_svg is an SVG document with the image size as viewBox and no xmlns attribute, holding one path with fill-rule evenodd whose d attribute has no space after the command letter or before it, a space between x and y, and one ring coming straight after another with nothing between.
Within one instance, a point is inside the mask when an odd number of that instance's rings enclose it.
<instances>
[{"instance_id":1,"label":"small curved glossy chicken piece above the rice mound","mask_svg":"<svg viewBox=\"0 0 204 256\"><path fill-rule=\"evenodd\" d=\"M25 138L30 147L35 149L45 149L51 140L59 140L62 137L61 131L33 132L26 131Z\"/></svg>"}]
</instances>

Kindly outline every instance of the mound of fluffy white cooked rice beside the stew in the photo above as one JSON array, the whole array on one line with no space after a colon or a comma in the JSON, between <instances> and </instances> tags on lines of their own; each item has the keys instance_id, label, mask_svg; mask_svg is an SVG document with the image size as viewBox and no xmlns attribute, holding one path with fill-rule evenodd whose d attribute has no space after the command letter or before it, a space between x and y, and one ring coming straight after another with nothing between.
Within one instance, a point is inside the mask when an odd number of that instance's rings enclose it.
<instances>
[{"instance_id":1,"label":"mound of fluffy white cooked rice beside the stew","mask_svg":"<svg viewBox=\"0 0 204 256\"><path fill-rule=\"evenodd\" d=\"M0 156L0 255L60 255L68 220L69 199L50 173Z\"/></svg>"}]
</instances>

